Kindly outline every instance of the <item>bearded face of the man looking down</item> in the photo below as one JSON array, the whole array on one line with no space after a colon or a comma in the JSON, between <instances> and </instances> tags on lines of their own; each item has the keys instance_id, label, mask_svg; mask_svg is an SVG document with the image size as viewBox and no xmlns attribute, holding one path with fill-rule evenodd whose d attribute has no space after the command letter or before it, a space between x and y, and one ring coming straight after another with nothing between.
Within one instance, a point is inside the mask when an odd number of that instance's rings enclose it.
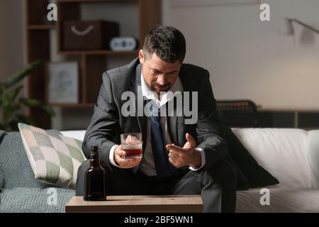
<instances>
[{"instance_id":1,"label":"bearded face of the man looking down","mask_svg":"<svg viewBox=\"0 0 319 227\"><path fill-rule=\"evenodd\" d=\"M142 74L147 85L159 95L159 92L167 92L179 76L181 62L165 62L157 57L155 52L146 57L142 50L139 52Z\"/></svg>"}]
</instances>

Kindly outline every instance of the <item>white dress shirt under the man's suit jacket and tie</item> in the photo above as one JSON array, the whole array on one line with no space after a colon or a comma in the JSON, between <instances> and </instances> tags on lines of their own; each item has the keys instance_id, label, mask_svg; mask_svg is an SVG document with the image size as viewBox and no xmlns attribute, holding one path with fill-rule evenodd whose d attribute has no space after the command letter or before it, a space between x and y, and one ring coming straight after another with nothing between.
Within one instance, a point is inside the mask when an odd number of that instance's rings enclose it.
<instances>
[{"instance_id":1,"label":"white dress shirt under the man's suit jacket and tie","mask_svg":"<svg viewBox=\"0 0 319 227\"><path fill-rule=\"evenodd\" d=\"M147 99L155 101L155 105L158 107L166 104L168 101L172 101L174 96L170 95L169 93L165 93L162 96L162 99L159 101L159 99L157 99L157 95L155 95L154 92L152 92L152 90L150 89L150 87L146 84L142 73L141 73L140 77L141 77L140 81L141 81L141 88L142 88L142 96L145 96ZM169 91L174 94L174 92L183 92L183 89L184 88L183 88L183 84L181 84L181 79L179 79L179 77L177 77L176 82L169 89ZM167 116L161 116L160 123L161 123L161 127L162 127L163 133L164 133L163 139L165 141L165 144L172 143L171 138L169 137L169 131L167 128ZM152 125L151 119L150 119L150 117L147 117L147 143L146 143L145 152L144 152L143 157L142 157L142 161L140 162L140 171L142 173L144 173L145 175L150 176L150 177L157 175L154 157L152 154L151 125ZM114 150L117 146L118 145L113 145L113 147L111 148L109 160L110 160L112 165L114 165L116 167L120 167L120 166L116 165L116 162L114 162L114 160L113 160ZM205 163L206 163L206 157L205 157L205 153L204 153L203 149L196 148L196 150L198 150L201 153L201 166L198 168L190 166L189 169L193 170L193 171L200 170L201 167L203 167L203 165L205 165Z\"/></svg>"}]
</instances>

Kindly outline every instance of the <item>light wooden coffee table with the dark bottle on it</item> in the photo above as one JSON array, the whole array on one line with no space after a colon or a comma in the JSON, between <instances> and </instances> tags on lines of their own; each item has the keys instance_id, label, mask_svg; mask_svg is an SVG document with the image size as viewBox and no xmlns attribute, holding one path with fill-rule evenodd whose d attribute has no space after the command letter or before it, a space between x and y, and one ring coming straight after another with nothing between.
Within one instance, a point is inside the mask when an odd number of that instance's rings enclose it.
<instances>
[{"instance_id":1,"label":"light wooden coffee table with the dark bottle on it","mask_svg":"<svg viewBox=\"0 0 319 227\"><path fill-rule=\"evenodd\" d=\"M195 213L201 211L203 211L203 201L200 195L107 196L107 201L84 201L82 196L74 196L65 205L67 213Z\"/></svg>"}]
</instances>

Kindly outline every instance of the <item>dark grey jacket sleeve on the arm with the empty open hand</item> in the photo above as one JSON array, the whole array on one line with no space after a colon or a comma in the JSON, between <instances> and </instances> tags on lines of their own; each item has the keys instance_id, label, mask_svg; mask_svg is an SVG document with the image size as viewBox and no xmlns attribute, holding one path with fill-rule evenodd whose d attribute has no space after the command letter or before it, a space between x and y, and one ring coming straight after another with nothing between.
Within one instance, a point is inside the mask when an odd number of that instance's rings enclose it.
<instances>
[{"instance_id":1,"label":"dark grey jacket sleeve on the arm with the empty open hand","mask_svg":"<svg viewBox=\"0 0 319 227\"><path fill-rule=\"evenodd\" d=\"M198 92L196 134L199 143L197 148L202 148L205 152L206 165L203 169L206 169L226 159L228 144L216 110L216 100L207 70L205 70L204 79L201 80L201 88L203 89Z\"/></svg>"}]
</instances>

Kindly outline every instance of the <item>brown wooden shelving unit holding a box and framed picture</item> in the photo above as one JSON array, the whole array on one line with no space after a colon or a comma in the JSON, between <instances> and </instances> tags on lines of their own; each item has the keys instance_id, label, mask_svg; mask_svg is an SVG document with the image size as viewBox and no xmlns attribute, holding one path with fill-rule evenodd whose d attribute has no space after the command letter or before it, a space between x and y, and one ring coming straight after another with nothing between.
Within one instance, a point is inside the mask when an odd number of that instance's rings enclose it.
<instances>
[{"instance_id":1,"label":"brown wooden shelving unit holding a box and framed picture","mask_svg":"<svg viewBox=\"0 0 319 227\"><path fill-rule=\"evenodd\" d=\"M118 7L125 4L136 4L138 9L138 35L139 48L147 32L161 21L161 0L57 0L57 22L55 24L45 21L48 0L26 0L26 29L27 29L27 59L51 61L52 52L65 57L77 57L79 63L79 103L78 104L51 104L62 109L93 108L102 82L102 73L108 70L108 57L137 56L138 50L112 51L112 50L64 50L62 47L62 23L68 20L81 20L83 4L116 4ZM96 18L100 19L100 18ZM129 21L128 21L129 22ZM122 22L125 23L125 22ZM120 26L122 24L120 23ZM50 31L57 32L57 50L50 50ZM122 35L120 33L120 35ZM35 70L28 77L27 92L30 98L45 100L45 65ZM28 114L34 116L37 126L51 127L50 116L44 111L29 109Z\"/></svg>"}]
</instances>

